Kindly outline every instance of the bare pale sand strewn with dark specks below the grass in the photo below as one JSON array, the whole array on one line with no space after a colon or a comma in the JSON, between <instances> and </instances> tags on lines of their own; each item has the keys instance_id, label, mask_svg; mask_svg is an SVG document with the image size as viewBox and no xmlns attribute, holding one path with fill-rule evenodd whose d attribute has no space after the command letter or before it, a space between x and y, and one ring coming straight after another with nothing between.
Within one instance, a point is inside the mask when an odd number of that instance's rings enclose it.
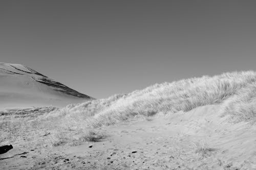
<instances>
[{"instance_id":1,"label":"bare pale sand strewn with dark specks below the grass","mask_svg":"<svg viewBox=\"0 0 256 170\"><path fill-rule=\"evenodd\" d=\"M1 169L256 169L256 126L229 123L228 118L220 116L217 105L160 114L99 128L108 134L99 142L29 151L14 146L0 155L0 165Z\"/></svg>"}]
</instances>

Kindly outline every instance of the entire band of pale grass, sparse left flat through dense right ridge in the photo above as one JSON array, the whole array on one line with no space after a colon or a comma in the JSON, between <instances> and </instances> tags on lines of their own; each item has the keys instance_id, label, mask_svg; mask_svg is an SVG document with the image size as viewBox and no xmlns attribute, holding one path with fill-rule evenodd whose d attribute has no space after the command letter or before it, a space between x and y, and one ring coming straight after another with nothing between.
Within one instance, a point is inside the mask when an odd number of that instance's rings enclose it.
<instances>
[{"instance_id":1,"label":"entire band of pale grass, sparse left flat through dense right ridge","mask_svg":"<svg viewBox=\"0 0 256 170\"><path fill-rule=\"evenodd\" d=\"M136 117L147 119L157 113L173 114L198 106L219 104L223 114L236 121L254 120L256 113L256 72L241 71L172 83L155 84L129 94L113 95L108 99L69 105L37 116L0 116L0 143L23 140L30 136L34 143L61 145L87 141L83 137L92 128L114 125ZM46 139L41 133L49 133ZM105 136L102 132L97 132ZM90 134L90 133L89 133ZM95 134L97 135L97 134ZM91 135L92 136L92 135ZM32 140L33 141L33 140ZM31 141L31 142L32 142Z\"/></svg>"}]
</instances>

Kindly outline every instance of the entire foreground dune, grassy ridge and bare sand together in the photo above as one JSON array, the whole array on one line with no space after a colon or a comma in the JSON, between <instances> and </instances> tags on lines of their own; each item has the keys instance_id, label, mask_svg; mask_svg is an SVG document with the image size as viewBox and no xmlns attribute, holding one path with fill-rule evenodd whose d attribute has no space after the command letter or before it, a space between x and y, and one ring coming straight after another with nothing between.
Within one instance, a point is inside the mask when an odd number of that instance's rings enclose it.
<instances>
[{"instance_id":1,"label":"entire foreground dune, grassy ridge and bare sand together","mask_svg":"<svg viewBox=\"0 0 256 170\"><path fill-rule=\"evenodd\" d=\"M256 169L255 89L256 72L241 71L3 114L0 144L13 150L0 163L3 169Z\"/></svg>"}]
</instances>

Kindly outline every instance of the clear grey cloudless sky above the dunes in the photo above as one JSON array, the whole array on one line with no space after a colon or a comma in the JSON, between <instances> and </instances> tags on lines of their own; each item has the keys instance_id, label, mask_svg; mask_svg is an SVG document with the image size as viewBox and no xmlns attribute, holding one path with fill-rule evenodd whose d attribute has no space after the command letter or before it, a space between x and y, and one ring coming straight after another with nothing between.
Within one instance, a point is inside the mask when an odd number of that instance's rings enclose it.
<instances>
[{"instance_id":1,"label":"clear grey cloudless sky above the dunes","mask_svg":"<svg viewBox=\"0 0 256 170\"><path fill-rule=\"evenodd\" d=\"M94 98L256 70L256 1L0 1L0 62Z\"/></svg>"}]
</instances>

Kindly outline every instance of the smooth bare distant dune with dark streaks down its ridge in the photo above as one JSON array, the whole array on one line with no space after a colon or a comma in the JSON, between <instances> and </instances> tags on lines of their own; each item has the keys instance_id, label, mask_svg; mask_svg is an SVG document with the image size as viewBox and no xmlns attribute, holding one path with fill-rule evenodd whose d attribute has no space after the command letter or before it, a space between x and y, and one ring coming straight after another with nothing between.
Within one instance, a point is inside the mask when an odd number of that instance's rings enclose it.
<instances>
[{"instance_id":1,"label":"smooth bare distant dune with dark streaks down its ridge","mask_svg":"<svg viewBox=\"0 0 256 170\"><path fill-rule=\"evenodd\" d=\"M0 109L63 107L91 100L39 72L20 64L0 63Z\"/></svg>"}]
</instances>

